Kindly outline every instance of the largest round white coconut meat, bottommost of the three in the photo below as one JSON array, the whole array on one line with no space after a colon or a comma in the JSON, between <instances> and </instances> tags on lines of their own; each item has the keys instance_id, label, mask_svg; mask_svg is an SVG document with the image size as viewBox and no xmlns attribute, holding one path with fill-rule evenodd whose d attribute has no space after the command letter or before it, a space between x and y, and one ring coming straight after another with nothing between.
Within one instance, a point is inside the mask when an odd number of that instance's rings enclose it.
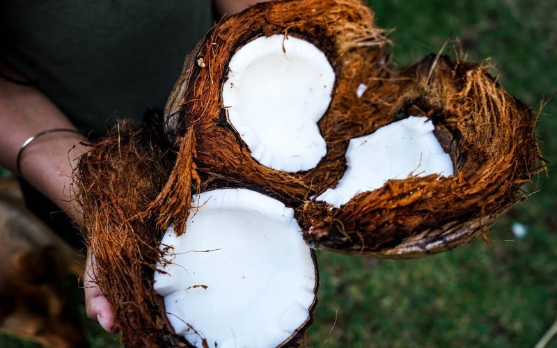
<instances>
[{"instance_id":1,"label":"largest round white coconut meat, bottommost of the three","mask_svg":"<svg viewBox=\"0 0 557 348\"><path fill-rule=\"evenodd\" d=\"M294 211L246 189L194 196L186 233L166 231L155 291L197 347L276 347L310 318L316 267ZM196 208L197 207L197 208Z\"/></svg>"}]
</instances>

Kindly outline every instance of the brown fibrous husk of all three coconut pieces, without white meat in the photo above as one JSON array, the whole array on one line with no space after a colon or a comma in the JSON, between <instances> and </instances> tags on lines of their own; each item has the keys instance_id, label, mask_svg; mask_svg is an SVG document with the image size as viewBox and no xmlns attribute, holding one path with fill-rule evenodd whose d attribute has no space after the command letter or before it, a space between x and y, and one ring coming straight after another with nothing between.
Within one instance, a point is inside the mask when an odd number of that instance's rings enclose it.
<instances>
[{"instance_id":1,"label":"brown fibrous husk of all three coconut pieces, without white meat","mask_svg":"<svg viewBox=\"0 0 557 348\"><path fill-rule=\"evenodd\" d=\"M97 283L126 345L187 345L152 291L159 239L185 231L191 194L215 187L267 193L297 212L310 246L350 254L417 258L470 242L524 198L540 171L535 117L486 66L433 55L392 72L389 40L359 0L262 3L215 25L187 57L164 125L120 122L91 145L75 174ZM318 126L327 155L310 171L258 164L221 102L230 57L261 35L304 38L336 72ZM359 84L368 89L356 96ZM425 116L455 166L450 177L390 180L340 208L311 199L336 187L350 139L408 116ZM186 231L187 232L187 231Z\"/></svg>"}]
</instances>

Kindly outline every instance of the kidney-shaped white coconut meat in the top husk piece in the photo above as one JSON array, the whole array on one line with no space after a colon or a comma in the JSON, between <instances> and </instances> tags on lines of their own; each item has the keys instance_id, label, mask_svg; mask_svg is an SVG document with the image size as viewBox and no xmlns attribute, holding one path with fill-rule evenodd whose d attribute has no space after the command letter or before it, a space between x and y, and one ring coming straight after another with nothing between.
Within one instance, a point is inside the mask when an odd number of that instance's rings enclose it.
<instances>
[{"instance_id":1,"label":"kidney-shaped white coconut meat in the top husk piece","mask_svg":"<svg viewBox=\"0 0 557 348\"><path fill-rule=\"evenodd\" d=\"M317 166L327 152L317 122L335 81L323 52L292 36L260 37L238 49L228 69L223 105L251 156L278 171Z\"/></svg>"}]
</instances>

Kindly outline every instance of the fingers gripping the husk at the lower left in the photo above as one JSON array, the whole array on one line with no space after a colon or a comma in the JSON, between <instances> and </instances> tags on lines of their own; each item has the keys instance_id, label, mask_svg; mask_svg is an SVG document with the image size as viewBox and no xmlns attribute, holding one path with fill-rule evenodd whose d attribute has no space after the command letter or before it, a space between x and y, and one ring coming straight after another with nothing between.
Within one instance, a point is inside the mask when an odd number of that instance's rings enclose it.
<instances>
[{"instance_id":1,"label":"fingers gripping the husk at the lower left","mask_svg":"<svg viewBox=\"0 0 557 348\"><path fill-rule=\"evenodd\" d=\"M115 333L114 316L110 303L102 291L95 283L95 274L97 272L97 264L95 255L87 254L87 262L85 264L84 287L85 287L85 307L87 317L94 322L98 322L102 329L109 333Z\"/></svg>"}]
</instances>

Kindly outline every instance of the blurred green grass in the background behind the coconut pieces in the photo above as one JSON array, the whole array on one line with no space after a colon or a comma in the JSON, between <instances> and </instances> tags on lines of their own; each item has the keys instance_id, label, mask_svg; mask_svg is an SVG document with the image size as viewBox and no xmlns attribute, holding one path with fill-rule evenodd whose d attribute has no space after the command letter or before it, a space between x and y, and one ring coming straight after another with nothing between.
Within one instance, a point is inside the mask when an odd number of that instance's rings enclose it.
<instances>
[{"instance_id":1,"label":"blurred green grass in the background behind the coconut pieces","mask_svg":"<svg viewBox=\"0 0 557 348\"><path fill-rule=\"evenodd\" d=\"M557 92L557 1L369 1L377 25L393 29L394 68L460 40L469 61L530 105ZM445 54L454 56L452 45ZM421 260L378 260L317 252L319 304L308 347L533 347L557 319L557 100L536 127L549 161L524 187L526 202L482 239ZM3 175L6 175L3 172ZM68 279L68 288L76 283ZM118 336L87 322L82 290L72 290L93 347ZM35 347L0 335L0 347ZM557 338L548 347L557 347Z\"/></svg>"}]
</instances>

